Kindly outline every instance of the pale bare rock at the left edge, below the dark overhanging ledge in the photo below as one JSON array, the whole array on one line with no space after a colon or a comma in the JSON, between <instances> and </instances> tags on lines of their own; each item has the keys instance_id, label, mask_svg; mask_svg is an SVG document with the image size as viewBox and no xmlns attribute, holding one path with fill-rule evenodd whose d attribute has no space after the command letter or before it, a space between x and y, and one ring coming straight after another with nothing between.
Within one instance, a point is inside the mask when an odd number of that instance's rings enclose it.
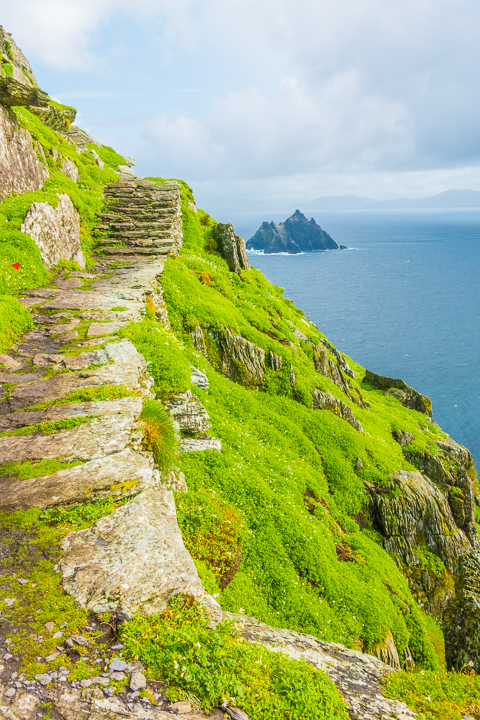
<instances>
[{"instance_id":1,"label":"pale bare rock at the left edge, below the dark overhanging ledge","mask_svg":"<svg viewBox=\"0 0 480 720\"><path fill-rule=\"evenodd\" d=\"M33 148L32 136L11 110L0 105L0 200L39 190L48 177Z\"/></svg>"}]
</instances>

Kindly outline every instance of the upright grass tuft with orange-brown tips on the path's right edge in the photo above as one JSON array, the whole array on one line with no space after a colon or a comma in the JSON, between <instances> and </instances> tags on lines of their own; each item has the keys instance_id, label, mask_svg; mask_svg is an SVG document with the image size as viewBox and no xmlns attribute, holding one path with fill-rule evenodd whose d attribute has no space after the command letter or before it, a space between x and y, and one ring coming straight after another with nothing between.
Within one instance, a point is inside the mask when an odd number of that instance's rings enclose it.
<instances>
[{"instance_id":1,"label":"upright grass tuft with orange-brown tips on the path's right edge","mask_svg":"<svg viewBox=\"0 0 480 720\"><path fill-rule=\"evenodd\" d=\"M160 402L147 399L140 419L145 430L145 449L153 453L159 468L168 472L178 458L178 437L171 416Z\"/></svg>"}]
</instances>

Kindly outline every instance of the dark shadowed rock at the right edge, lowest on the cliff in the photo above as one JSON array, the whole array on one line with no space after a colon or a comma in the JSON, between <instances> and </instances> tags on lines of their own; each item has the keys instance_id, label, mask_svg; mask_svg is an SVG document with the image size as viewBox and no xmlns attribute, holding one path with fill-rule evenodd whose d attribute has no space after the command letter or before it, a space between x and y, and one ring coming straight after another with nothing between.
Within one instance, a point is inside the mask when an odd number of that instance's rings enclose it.
<instances>
[{"instance_id":1,"label":"dark shadowed rock at the right edge, lowest on the cliff","mask_svg":"<svg viewBox=\"0 0 480 720\"><path fill-rule=\"evenodd\" d=\"M455 599L444 615L447 670L473 668L480 672L480 556L465 553L458 563Z\"/></svg>"}]
</instances>

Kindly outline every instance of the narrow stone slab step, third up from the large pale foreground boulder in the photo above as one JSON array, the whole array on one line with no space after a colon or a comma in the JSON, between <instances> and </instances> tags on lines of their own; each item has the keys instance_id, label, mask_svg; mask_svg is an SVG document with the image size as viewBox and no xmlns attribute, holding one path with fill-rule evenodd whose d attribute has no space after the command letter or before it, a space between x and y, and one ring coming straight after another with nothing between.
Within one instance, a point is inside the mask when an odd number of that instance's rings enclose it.
<instances>
[{"instance_id":1,"label":"narrow stone slab step, third up from the large pale foreground boulder","mask_svg":"<svg viewBox=\"0 0 480 720\"><path fill-rule=\"evenodd\" d=\"M80 416L114 417L128 413L138 417L142 411L141 397L122 398L121 400L104 400L101 402L69 403L68 405L51 405L43 410L24 410L0 415L0 432L16 430L26 425L42 422L56 422Z\"/></svg>"}]
</instances>

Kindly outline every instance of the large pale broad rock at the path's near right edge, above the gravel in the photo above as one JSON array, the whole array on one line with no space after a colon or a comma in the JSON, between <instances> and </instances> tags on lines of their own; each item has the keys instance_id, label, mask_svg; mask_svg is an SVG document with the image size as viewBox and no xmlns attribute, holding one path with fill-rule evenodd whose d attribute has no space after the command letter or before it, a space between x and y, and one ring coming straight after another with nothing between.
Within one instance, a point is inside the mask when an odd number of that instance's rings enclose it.
<instances>
[{"instance_id":1,"label":"large pale broad rock at the path's near right edge, above the gravel","mask_svg":"<svg viewBox=\"0 0 480 720\"><path fill-rule=\"evenodd\" d=\"M70 533L61 545L63 586L79 607L130 618L163 612L172 595L184 593L218 608L205 596L183 544L173 494L163 486Z\"/></svg>"}]
</instances>

